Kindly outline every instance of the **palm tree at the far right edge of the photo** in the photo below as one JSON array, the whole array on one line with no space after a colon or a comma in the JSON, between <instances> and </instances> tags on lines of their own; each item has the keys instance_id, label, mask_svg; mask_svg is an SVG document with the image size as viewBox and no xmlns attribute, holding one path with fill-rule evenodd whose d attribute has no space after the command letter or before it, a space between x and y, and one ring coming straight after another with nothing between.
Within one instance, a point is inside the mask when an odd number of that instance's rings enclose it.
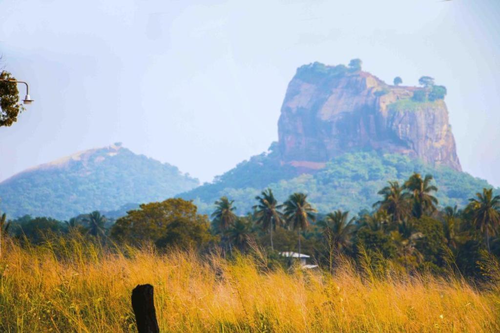
<instances>
[{"instance_id":1,"label":"palm tree at the far right edge of the photo","mask_svg":"<svg viewBox=\"0 0 500 333\"><path fill-rule=\"evenodd\" d=\"M500 196L493 197L492 189L482 189L481 193L475 194L477 199L469 199L469 208L477 229L484 233L486 245L489 252L489 235L496 234L496 228L500 223Z\"/></svg>"}]
</instances>

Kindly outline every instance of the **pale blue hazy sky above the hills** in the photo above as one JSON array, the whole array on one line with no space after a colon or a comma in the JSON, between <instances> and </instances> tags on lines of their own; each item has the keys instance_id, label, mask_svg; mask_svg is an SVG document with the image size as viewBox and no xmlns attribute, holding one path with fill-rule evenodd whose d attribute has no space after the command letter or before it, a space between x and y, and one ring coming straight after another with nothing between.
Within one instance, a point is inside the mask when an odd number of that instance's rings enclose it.
<instances>
[{"instance_id":1,"label":"pale blue hazy sky above the hills","mask_svg":"<svg viewBox=\"0 0 500 333\"><path fill-rule=\"evenodd\" d=\"M1 0L3 66L35 102L0 128L0 180L122 142L209 182L277 140L297 67L360 58L445 85L463 170L500 186L498 17L497 0Z\"/></svg>"}]
</instances>

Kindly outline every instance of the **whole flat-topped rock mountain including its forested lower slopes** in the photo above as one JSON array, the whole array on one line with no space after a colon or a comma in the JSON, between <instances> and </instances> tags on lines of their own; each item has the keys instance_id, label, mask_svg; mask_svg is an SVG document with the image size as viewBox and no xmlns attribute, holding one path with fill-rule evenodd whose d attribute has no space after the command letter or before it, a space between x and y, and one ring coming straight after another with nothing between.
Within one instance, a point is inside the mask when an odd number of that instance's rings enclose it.
<instances>
[{"instance_id":1,"label":"whole flat-topped rock mountain including its forested lower slopes","mask_svg":"<svg viewBox=\"0 0 500 333\"><path fill-rule=\"evenodd\" d=\"M446 89L389 85L360 68L315 62L288 84L269 150L179 196L209 213L226 195L251 211L266 187L283 201L302 191L320 212L371 209L388 180L431 174L442 206L467 203L486 181L461 172Z\"/></svg>"}]
</instances>

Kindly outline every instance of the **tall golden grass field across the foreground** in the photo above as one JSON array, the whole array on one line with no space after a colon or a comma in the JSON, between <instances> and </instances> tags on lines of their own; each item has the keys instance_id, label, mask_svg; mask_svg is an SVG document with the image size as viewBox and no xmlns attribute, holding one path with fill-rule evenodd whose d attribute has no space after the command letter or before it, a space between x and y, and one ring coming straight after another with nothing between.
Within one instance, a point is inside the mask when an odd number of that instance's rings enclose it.
<instances>
[{"instance_id":1,"label":"tall golden grass field across the foreground","mask_svg":"<svg viewBox=\"0 0 500 333\"><path fill-rule=\"evenodd\" d=\"M258 257L103 250L81 239L0 259L1 332L135 332L130 293L154 286L162 332L499 332L500 297L459 279L266 271ZM56 255L57 254L57 255ZM369 273L369 272L365 272Z\"/></svg>"}]
</instances>

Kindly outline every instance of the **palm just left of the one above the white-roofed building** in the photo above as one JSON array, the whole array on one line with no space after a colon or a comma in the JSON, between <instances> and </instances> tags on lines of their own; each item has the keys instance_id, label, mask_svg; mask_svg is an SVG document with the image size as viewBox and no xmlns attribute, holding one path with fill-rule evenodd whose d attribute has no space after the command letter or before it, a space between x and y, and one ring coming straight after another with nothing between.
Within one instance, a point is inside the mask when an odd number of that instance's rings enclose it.
<instances>
[{"instance_id":1,"label":"palm just left of the one above the white-roofed building","mask_svg":"<svg viewBox=\"0 0 500 333\"><path fill-rule=\"evenodd\" d=\"M274 250L272 244L272 230L284 224L283 214L279 211L282 205L278 205L271 189L262 191L261 196L256 196L255 200L258 204L253 206L255 209L256 224L260 224L262 229L269 230L269 237L271 240L271 249Z\"/></svg>"}]
</instances>

